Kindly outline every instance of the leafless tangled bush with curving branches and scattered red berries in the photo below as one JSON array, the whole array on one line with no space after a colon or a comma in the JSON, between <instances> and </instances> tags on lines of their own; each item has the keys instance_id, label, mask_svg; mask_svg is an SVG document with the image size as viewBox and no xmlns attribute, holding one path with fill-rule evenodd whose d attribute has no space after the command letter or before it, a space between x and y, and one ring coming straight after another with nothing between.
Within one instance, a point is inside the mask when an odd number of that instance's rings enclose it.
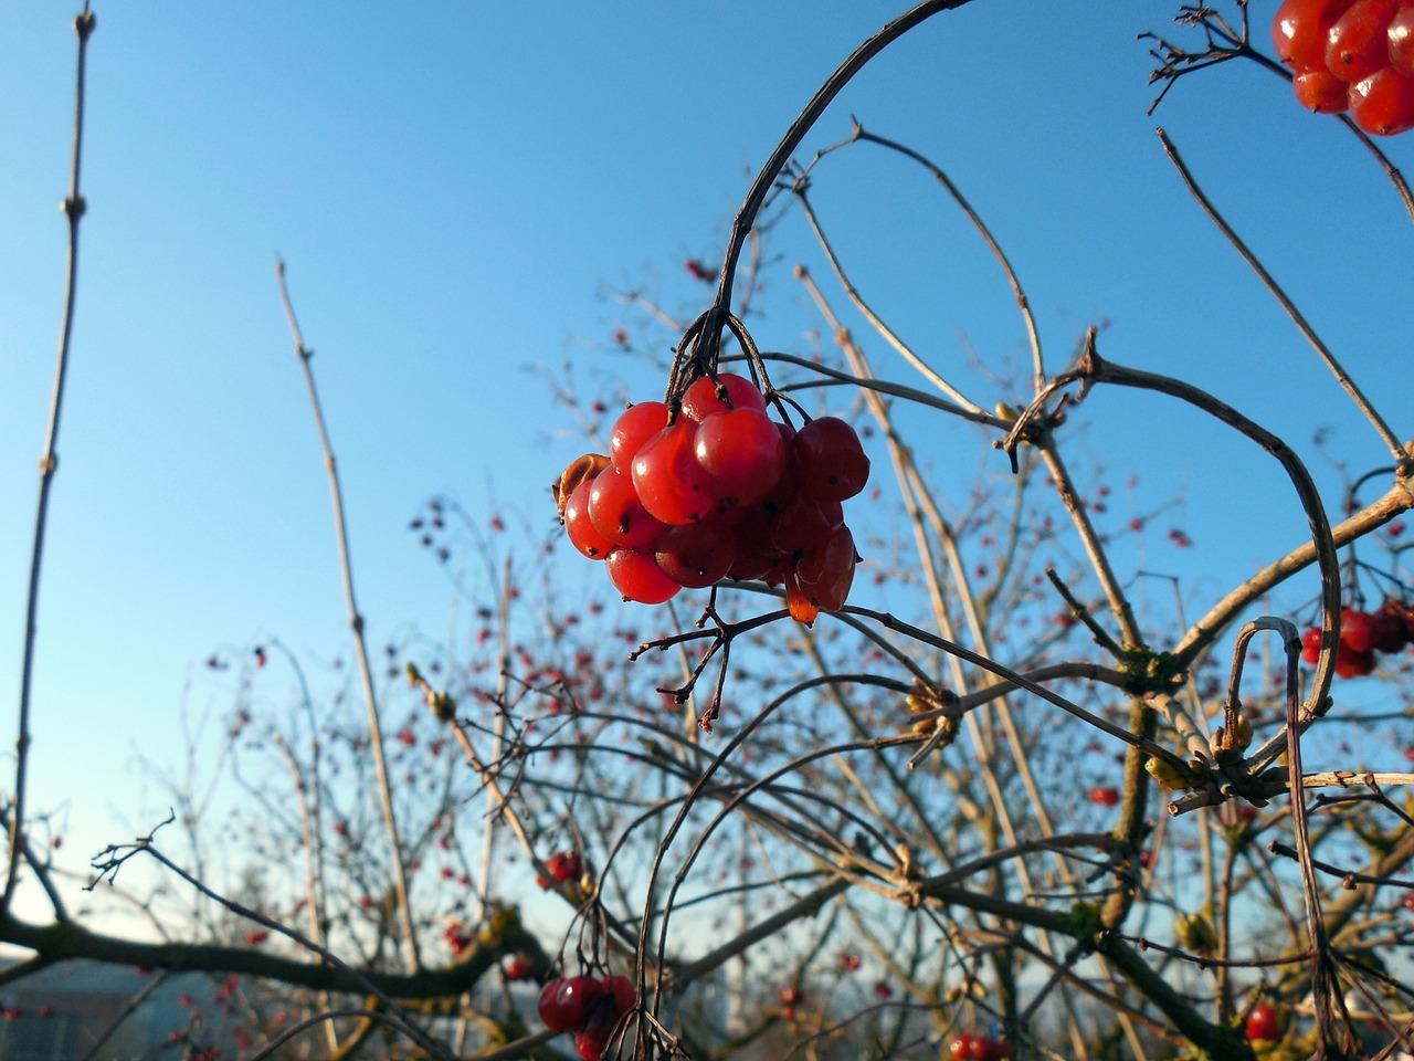
<instances>
[{"instance_id":1,"label":"leafless tangled bush with curving branches and scattered red berries","mask_svg":"<svg viewBox=\"0 0 1414 1061\"><path fill-rule=\"evenodd\" d=\"M557 521L550 499L523 526L450 498L416 514L465 638L369 652L281 272L354 632L331 669L356 680L315 703L279 641L212 654L233 707L188 777L243 794L235 825L214 837L206 791L173 779L171 830L95 867L113 883L156 860L187 898L133 905L175 942L105 937L58 901L51 925L0 920L0 941L37 966L208 972L252 1061L1414 1053L1407 399L1360 390L1167 136L1178 187L1362 417L1339 497L1309 470L1321 444L1257 423L1243 395L1131 366L1100 323L1058 366L1022 270L926 153L854 123L806 156L844 83L962 6L921 4L831 75L720 269L687 260L686 311L619 293L609 345L662 399L566 369L588 437L556 464L588 451L553 482ZM1230 61L1290 78L1414 219L1370 140L1414 126L1411 11L1285 0L1275 58L1246 3L1184 6L1143 38L1159 99ZM918 167L926 208L971 226L1017 307L1019 368L909 344L865 301L822 190L868 151ZM782 290L831 347L778 331L764 293ZM1164 412L1126 420L1106 405L1123 396ZM1290 489L1280 519L1241 514L1290 543L1233 584L1155 570L1206 545L1175 525L1182 494L1140 484L1169 416L1260 450ZM1106 417L1138 436L1121 461L1086 446ZM280 679L290 702L252 695ZM10 813L13 871L45 884L44 819ZM232 830L238 887L185 869ZM209 1013L182 1007L173 1048L219 1055Z\"/></svg>"}]
</instances>

